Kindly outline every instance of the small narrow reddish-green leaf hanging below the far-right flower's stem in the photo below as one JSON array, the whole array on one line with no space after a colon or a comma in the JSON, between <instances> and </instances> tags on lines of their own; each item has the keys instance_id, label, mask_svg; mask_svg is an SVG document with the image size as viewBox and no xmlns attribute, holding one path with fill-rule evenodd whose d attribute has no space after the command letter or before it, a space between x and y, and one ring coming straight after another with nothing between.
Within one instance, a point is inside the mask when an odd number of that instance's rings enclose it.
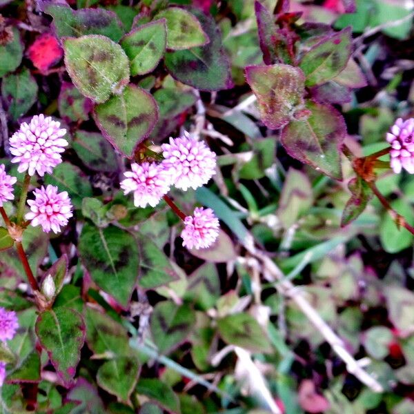
<instances>
[{"instance_id":1,"label":"small narrow reddish-green leaf hanging below the far-right flower's stem","mask_svg":"<svg viewBox=\"0 0 414 414\"><path fill-rule=\"evenodd\" d=\"M346 226L357 219L365 210L368 201L373 197L373 192L366 181L359 177L351 179L348 183L351 198L346 201L344 213L342 213L341 226Z\"/></svg>"}]
</instances>

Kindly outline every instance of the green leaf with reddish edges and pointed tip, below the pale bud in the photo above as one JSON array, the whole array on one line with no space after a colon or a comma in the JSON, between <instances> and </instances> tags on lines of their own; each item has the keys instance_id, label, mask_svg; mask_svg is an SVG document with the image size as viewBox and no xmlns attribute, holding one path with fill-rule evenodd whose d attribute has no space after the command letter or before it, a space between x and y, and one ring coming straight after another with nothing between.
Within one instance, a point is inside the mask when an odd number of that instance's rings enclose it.
<instances>
[{"instance_id":1,"label":"green leaf with reddish edges and pointed tip, below the pale bud","mask_svg":"<svg viewBox=\"0 0 414 414\"><path fill-rule=\"evenodd\" d=\"M37 318L36 333L57 374L66 386L70 385L85 342L85 324L81 315L64 307L44 311Z\"/></svg>"}]
</instances>

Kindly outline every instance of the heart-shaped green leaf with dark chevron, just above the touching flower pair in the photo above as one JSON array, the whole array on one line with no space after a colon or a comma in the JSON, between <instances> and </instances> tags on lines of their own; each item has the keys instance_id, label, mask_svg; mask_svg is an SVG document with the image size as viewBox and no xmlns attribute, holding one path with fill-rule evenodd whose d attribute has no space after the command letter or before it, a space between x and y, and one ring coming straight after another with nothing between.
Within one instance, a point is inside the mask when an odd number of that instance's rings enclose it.
<instances>
[{"instance_id":1,"label":"heart-shaped green leaf with dark chevron, just above the touching flower pair","mask_svg":"<svg viewBox=\"0 0 414 414\"><path fill-rule=\"evenodd\" d=\"M128 85L124 92L95 108L95 121L102 134L126 157L146 139L158 119L155 99L144 89Z\"/></svg>"}]
</instances>

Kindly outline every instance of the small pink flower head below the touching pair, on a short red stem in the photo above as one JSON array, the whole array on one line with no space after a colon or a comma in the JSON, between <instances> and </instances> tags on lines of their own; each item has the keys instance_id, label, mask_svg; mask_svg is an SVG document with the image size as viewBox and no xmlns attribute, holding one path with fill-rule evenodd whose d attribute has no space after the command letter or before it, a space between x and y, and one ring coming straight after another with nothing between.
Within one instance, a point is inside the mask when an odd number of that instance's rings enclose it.
<instances>
[{"instance_id":1,"label":"small pink flower head below the touching pair, on a short red stem","mask_svg":"<svg viewBox=\"0 0 414 414\"><path fill-rule=\"evenodd\" d=\"M211 208L196 207L194 215L184 219L184 230L181 232L183 246L187 248L207 248L219 235L219 219Z\"/></svg>"}]
</instances>

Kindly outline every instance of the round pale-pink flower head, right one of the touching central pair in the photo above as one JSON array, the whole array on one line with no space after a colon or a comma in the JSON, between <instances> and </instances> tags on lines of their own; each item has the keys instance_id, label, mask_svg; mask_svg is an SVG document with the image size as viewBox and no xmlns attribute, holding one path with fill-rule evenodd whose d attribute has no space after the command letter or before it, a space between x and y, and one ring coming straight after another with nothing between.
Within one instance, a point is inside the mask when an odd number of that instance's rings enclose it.
<instances>
[{"instance_id":1,"label":"round pale-pink flower head, right one of the touching central pair","mask_svg":"<svg viewBox=\"0 0 414 414\"><path fill-rule=\"evenodd\" d=\"M207 184L215 174L216 155L202 141L190 137L170 138L162 144L165 168L170 171L172 182L181 190L198 188Z\"/></svg>"}]
</instances>

